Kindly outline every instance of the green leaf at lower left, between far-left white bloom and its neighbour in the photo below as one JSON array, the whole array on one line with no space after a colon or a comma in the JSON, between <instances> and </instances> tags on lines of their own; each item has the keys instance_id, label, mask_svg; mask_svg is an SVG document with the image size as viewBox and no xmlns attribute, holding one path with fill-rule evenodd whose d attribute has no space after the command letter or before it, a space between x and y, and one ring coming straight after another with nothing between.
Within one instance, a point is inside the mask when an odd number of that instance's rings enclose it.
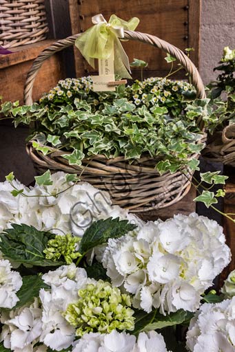
<instances>
[{"instance_id":1,"label":"green leaf at lower left, between far-left white bloom and its neighbour","mask_svg":"<svg viewBox=\"0 0 235 352\"><path fill-rule=\"evenodd\" d=\"M22 307L26 303L32 303L34 297L39 297L40 289L49 288L49 286L43 282L41 275L22 276L22 280L23 285L17 292L19 301L17 302L17 305L14 306L14 309Z\"/></svg>"}]
</instances>

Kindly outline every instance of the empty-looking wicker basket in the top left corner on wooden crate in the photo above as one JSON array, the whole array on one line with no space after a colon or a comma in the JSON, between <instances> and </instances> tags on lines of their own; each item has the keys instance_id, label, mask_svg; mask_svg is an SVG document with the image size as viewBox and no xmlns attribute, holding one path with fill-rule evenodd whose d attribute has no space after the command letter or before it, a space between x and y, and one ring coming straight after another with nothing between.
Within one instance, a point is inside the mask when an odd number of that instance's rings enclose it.
<instances>
[{"instance_id":1,"label":"empty-looking wicker basket in the top left corner on wooden crate","mask_svg":"<svg viewBox=\"0 0 235 352\"><path fill-rule=\"evenodd\" d=\"M17 47L45 39L44 0L0 1L0 45Z\"/></svg>"}]
</instances>

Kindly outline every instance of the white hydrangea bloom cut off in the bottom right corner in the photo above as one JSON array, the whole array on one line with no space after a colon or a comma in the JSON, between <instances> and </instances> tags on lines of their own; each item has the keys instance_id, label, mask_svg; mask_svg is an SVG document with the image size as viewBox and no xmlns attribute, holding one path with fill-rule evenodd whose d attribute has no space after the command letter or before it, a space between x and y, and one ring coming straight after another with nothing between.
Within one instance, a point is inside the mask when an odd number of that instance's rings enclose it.
<instances>
[{"instance_id":1,"label":"white hydrangea bloom cut off in the bottom right corner","mask_svg":"<svg viewBox=\"0 0 235 352\"><path fill-rule=\"evenodd\" d=\"M235 297L201 306L190 322L187 348L192 352L235 351Z\"/></svg>"}]
</instances>

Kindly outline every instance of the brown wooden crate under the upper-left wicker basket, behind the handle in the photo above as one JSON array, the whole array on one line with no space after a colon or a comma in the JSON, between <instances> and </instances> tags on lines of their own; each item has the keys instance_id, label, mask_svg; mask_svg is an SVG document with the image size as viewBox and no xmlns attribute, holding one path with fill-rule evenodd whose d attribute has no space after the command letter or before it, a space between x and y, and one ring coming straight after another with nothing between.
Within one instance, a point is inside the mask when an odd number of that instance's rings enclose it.
<instances>
[{"instance_id":1,"label":"brown wooden crate under the upper-left wicker basket, behind the handle","mask_svg":"<svg viewBox=\"0 0 235 352\"><path fill-rule=\"evenodd\" d=\"M0 56L0 96L3 101L19 100L23 104L23 87L28 70L34 58L54 43L53 40L41 41L35 44L12 48L12 54ZM49 58L39 71L34 83L33 100L57 85L58 80L65 78L65 70L59 55Z\"/></svg>"}]
</instances>

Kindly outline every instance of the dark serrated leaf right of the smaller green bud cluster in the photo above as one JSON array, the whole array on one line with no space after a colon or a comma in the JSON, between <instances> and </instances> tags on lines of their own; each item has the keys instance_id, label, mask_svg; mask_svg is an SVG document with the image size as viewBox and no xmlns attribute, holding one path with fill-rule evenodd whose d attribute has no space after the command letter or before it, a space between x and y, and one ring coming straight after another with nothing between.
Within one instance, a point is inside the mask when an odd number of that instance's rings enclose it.
<instances>
[{"instance_id":1,"label":"dark serrated leaf right of the smaller green bud cluster","mask_svg":"<svg viewBox=\"0 0 235 352\"><path fill-rule=\"evenodd\" d=\"M108 239L117 239L129 231L134 230L136 225L128 223L127 220L119 220L119 217L106 220L94 221L90 228L85 230L80 242L79 252L81 254L87 253L96 245L106 243Z\"/></svg>"}]
</instances>

